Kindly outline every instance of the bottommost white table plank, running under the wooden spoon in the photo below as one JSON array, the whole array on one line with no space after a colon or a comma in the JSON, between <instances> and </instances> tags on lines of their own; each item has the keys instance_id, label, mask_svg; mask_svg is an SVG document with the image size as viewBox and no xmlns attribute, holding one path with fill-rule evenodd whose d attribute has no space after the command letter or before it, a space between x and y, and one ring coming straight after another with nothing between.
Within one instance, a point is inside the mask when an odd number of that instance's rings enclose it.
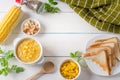
<instances>
[{"instance_id":1,"label":"bottommost white table plank, running under the wooden spoon","mask_svg":"<svg viewBox=\"0 0 120 80\"><path fill-rule=\"evenodd\" d=\"M45 74L40 76L37 80L64 80L59 74L59 65L68 57L45 57L45 61L52 61L56 65L56 70L53 74ZM20 74L10 73L7 77L0 76L0 80L26 80L30 75L38 72L41 69L41 65L23 65L18 63L16 59L12 60L11 63L23 66L25 72ZM89 69L82 69L81 75L78 80L119 80L119 74L110 77L101 77L92 73Z\"/></svg>"}]
</instances>

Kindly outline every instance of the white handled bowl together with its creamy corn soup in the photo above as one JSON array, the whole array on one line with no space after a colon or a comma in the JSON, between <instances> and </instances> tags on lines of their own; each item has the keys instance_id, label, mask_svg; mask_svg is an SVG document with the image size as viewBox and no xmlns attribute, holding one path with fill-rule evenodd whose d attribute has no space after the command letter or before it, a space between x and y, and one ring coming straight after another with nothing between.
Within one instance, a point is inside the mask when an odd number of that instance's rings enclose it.
<instances>
[{"instance_id":1,"label":"white handled bowl together with its creamy corn soup","mask_svg":"<svg viewBox=\"0 0 120 80\"><path fill-rule=\"evenodd\" d=\"M43 49L41 43L30 37L15 40L15 57L25 64L32 64L42 61Z\"/></svg>"}]
</instances>

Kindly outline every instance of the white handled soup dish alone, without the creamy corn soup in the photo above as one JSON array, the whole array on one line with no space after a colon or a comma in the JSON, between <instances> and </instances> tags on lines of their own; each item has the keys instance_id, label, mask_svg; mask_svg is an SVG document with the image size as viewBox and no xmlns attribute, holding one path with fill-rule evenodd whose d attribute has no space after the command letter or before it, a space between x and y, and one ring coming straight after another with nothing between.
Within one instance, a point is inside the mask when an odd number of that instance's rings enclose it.
<instances>
[{"instance_id":1,"label":"white handled soup dish alone, without the creamy corn soup","mask_svg":"<svg viewBox=\"0 0 120 80\"><path fill-rule=\"evenodd\" d=\"M21 41L23 41L24 39L29 39L29 38L35 40L35 41L39 44L39 46L40 46L40 48L41 48L41 52L40 52L40 56L39 56L39 58L38 58L37 60L35 60L35 61L33 61L33 62L26 63L26 62L21 61L21 60L17 57L16 49L17 49L17 46L19 45L19 43L20 43ZM16 58L19 62L24 63L24 64L34 64L34 63L41 64L41 63L43 63L43 61L44 61L42 45L41 45L41 43L40 43L36 38L23 37L23 38L17 38L17 39L15 39L15 41L14 41L14 55L15 55L15 58Z\"/></svg>"}]
</instances>

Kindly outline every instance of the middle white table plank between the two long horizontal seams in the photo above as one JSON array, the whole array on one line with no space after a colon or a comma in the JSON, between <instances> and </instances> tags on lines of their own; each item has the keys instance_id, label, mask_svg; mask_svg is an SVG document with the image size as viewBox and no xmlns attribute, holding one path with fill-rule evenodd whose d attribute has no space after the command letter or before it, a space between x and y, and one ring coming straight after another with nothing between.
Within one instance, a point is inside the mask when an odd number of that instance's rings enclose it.
<instances>
[{"instance_id":1,"label":"middle white table plank between the two long horizontal seams","mask_svg":"<svg viewBox=\"0 0 120 80\"><path fill-rule=\"evenodd\" d=\"M85 52L87 42L102 34L38 34L35 36L44 49L44 56L69 56L70 52ZM108 35L108 34L103 34ZM27 37L24 34L11 34L1 45L3 49L14 49L16 39Z\"/></svg>"}]
</instances>

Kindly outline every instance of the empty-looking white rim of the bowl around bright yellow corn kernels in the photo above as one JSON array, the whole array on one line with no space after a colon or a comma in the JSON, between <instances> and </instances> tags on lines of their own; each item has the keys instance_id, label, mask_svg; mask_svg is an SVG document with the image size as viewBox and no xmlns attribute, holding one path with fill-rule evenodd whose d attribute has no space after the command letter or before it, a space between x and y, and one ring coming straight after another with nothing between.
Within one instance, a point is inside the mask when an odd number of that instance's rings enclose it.
<instances>
[{"instance_id":1,"label":"empty-looking white rim of the bowl around bright yellow corn kernels","mask_svg":"<svg viewBox=\"0 0 120 80\"><path fill-rule=\"evenodd\" d=\"M79 68L79 72L78 72L78 74L77 74L77 76L76 76L75 78L71 79L71 80L76 80L76 79L80 76L81 67L80 67L80 64L79 64L77 61L75 61L74 59L69 58L69 59L64 60L64 61L60 64L59 74L63 77L64 80L68 80L68 79L66 79L66 78L61 74L61 72L60 72L60 68L61 68L62 64L65 63L66 61L73 61L74 63L77 64L77 66L78 66L78 68Z\"/></svg>"}]
</instances>

